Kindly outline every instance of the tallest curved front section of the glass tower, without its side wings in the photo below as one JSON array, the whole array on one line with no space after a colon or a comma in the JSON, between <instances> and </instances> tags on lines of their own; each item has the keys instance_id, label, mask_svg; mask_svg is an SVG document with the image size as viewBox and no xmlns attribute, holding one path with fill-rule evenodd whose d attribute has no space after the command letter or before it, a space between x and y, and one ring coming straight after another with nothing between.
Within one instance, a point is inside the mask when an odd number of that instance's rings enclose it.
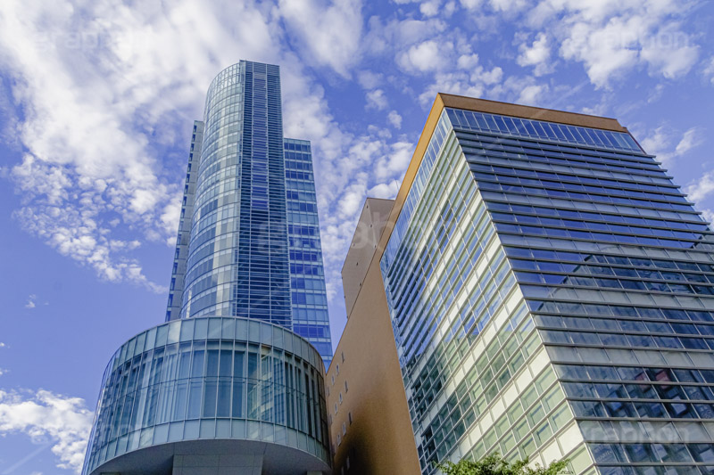
<instances>
[{"instance_id":1,"label":"tallest curved front section of the glass tower, without its side wings","mask_svg":"<svg viewBox=\"0 0 714 475\"><path fill-rule=\"evenodd\" d=\"M240 61L206 94L181 317L291 327L278 66Z\"/></svg>"}]
</instances>

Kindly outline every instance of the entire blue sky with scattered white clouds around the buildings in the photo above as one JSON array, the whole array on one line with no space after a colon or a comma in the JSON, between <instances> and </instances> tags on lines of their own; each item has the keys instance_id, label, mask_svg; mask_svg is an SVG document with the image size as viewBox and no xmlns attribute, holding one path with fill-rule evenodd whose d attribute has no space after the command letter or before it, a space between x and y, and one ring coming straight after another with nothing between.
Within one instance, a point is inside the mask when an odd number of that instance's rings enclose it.
<instances>
[{"instance_id":1,"label":"entire blue sky with scattered white clouds around the buildings","mask_svg":"<svg viewBox=\"0 0 714 475\"><path fill-rule=\"evenodd\" d=\"M115 348L161 323L190 130L240 59L313 144L333 339L366 196L437 92L615 117L714 217L714 4L3 0L0 475L79 470Z\"/></svg>"}]
</instances>

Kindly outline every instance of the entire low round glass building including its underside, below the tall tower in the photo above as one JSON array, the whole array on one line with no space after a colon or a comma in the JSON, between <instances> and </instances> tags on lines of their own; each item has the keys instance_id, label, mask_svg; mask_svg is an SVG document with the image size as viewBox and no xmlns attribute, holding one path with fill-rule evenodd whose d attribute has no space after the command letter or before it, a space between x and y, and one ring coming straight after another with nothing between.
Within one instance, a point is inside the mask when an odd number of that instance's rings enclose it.
<instances>
[{"instance_id":1,"label":"entire low round glass building including its underside, below the tall tower","mask_svg":"<svg viewBox=\"0 0 714 475\"><path fill-rule=\"evenodd\" d=\"M329 471L324 373L315 348L272 323L155 326L107 365L82 474Z\"/></svg>"}]
</instances>

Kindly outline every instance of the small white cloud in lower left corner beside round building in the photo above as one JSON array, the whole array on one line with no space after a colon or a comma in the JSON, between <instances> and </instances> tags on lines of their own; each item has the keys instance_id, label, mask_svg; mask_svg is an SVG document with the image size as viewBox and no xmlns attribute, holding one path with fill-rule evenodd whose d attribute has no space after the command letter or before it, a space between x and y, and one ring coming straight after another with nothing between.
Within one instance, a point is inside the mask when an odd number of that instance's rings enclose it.
<instances>
[{"instance_id":1,"label":"small white cloud in lower left corner beside round building","mask_svg":"<svg viewBox=\"0 0 714 475\"><path fill-rule=\"evenodd\" d=\"M0 389L0 435L22 433L35 443L51 443L62 469L81 471L93 418L79 397Z\"/></svg>"}]
</instances>

